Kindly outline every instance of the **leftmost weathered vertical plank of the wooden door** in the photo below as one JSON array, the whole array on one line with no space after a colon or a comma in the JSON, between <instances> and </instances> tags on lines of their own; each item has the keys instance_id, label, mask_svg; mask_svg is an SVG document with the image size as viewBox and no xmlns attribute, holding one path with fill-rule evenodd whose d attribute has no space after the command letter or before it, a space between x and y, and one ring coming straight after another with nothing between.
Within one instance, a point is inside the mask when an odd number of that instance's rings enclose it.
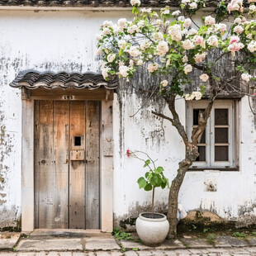
<instances>
[{"instance_id":1,"label":"leftmost weathered vertical plank of the wooden door","mask_svg":"<svg viewBox=\"0 0 256 256\"><path fill-rule=\"evenodd\" d=\"M52 228L53 102L35 101L36 228Z\"/></svg>"}]
</instances>

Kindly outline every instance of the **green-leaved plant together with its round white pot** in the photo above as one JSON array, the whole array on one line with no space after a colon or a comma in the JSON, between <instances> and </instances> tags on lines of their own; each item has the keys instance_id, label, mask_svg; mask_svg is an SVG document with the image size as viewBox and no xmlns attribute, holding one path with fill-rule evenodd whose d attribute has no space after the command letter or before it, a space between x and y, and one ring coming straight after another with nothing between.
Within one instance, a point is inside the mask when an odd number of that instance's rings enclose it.
<instances>
[{"instance_id":1,"label":"green-leaved plant together with its round white pot","mask_svg":"<svg viewBox=\"0 0 256 256\"><path fill-rule=\"evenodd\" d=\"M134 157L144 162L144 168L147 168L147 171L143 177L138 179L137 183L145 191L152 191L151 212L140 213L135 223L137 234L143 244L151 247L159 246L163 244L168 235L169 223L164 214L154 213L154 190L156 187L161 187L162 189L169 187L168 178L164 176L164 168L161 166L156 167L155 161L145 152L133 152L127 149L126 154L128 157ZM144 154L147 159L140 158L138 156L140 154Z\"/></svg>"}]
</instances>

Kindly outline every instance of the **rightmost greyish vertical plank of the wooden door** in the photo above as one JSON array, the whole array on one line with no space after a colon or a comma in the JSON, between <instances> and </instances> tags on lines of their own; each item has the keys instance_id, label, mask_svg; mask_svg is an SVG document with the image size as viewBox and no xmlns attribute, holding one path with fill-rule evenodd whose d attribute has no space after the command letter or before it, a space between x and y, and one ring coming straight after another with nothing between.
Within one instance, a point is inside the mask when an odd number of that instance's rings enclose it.
<instances>
[{"instance_id":1,"label":"rightmost greyish vertical plank of the wooden door","mask_svg":"<svg viewBox=\"0 0 256 256\"><path fill-rule=\"evenodd\" d=\"M86 108L86 229L99 229L99 132L100 102L87 102Z\"/></svg>"}]
</instances>

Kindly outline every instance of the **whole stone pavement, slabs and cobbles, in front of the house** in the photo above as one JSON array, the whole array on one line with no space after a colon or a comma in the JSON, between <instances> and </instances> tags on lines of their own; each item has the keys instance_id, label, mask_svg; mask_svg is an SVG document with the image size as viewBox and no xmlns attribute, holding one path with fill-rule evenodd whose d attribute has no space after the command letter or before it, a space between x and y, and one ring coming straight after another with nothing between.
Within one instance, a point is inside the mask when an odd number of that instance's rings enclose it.
<instances>
[{"instance_id":1,"label":"whole stone pavement, slabs and cobbles, in front of the house","mask_svg":"<svg viewBox=\"0 0 256 256\"><path fill-rule=\"evenodd\" d=\"M246 238L215 234L211 241L206 236L183 235L179 239L167 239L157 248L150 248L136 239L120 241L111 234L88 234L81 230L36 230L22 237L4 232L0 233L0 256L256 256L254 233Z\"/></svg>"}]
</instances>

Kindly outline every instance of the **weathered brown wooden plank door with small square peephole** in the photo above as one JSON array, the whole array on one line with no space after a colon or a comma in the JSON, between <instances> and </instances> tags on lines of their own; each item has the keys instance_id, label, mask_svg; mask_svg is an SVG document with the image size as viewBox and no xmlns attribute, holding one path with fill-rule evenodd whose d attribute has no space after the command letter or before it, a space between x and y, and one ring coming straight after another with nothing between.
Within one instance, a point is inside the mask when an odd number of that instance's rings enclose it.
<instances>
[{"instance_id":1,"label":"weathered brown wooden plank door with small square peephole","mask_svg":"<svg viewBox=\"0 0 256 256\"><path fill-rule=\"evenodd\" d=\"M100 229L100 102L35 101L36 228Z\"/></svg>"}]
</instances>

